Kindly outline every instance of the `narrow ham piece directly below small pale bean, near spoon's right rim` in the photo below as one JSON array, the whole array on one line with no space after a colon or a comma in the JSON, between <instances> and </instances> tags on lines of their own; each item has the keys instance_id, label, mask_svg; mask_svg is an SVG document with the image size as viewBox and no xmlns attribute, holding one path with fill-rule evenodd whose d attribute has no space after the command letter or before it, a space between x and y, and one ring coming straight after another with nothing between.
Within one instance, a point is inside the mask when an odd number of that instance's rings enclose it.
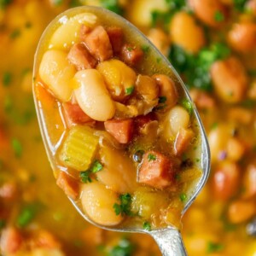
<instances>
[{"instance_id":1,"label":"narrow ham piece directly below small pale bean, near spoon's right rim","mask_svg":"<svg viewBox=\"0 0 256 256\"><path fill-rule=\"evenodd\" d=\"M190 129L181 128L175 139L174 151L176 155L181 155L188 148L191 139L194 136L194 132Z\"/></svg>"}]
</instances>

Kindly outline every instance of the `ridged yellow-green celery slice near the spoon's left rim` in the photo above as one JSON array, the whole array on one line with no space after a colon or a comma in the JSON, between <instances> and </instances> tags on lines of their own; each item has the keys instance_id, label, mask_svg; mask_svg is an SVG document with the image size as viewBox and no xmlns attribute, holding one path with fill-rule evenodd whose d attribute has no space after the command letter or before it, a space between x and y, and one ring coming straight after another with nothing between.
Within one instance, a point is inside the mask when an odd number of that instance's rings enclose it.
<instances>
[{"instance_id":1,"label":"ridged yellow-green celery slice near the spoon's left rim","mask_svg":"<svg viewBox=\"0 0 256 256\"><path fill-rule=\"evenodd\" d=\"M64 166L85 171L95 157L98 142L99 138L89 126L73 126L68 131L59 159Z\"/></svg>"}]
</instances>

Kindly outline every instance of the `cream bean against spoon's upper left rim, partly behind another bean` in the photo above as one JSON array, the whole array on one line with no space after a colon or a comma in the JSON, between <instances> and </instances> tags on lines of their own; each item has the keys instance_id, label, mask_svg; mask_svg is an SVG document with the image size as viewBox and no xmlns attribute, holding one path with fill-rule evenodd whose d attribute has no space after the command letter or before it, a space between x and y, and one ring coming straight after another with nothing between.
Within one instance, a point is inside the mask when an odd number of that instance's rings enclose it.
<instances>
[{"instance_id":1,"label":"cream bean against spoon's upper left rim, partly behind another bean","mask_svg":"<svg viewBox=\"0 0 256 256\"><path fill-rule=\"evenodd\" d=\"M73 88L70 84L76 69L67 61L67 54L50 49L44 53L39 67L39 75L55 97L63 102L70 100Z\"/></svg>"}]
</instances>

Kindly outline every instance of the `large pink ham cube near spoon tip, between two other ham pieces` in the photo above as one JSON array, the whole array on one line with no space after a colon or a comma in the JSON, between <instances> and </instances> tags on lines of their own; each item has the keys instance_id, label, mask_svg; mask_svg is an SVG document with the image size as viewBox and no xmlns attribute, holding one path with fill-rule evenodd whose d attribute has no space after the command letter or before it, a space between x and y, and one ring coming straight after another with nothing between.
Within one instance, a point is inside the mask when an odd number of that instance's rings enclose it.
<instances>
[{"instance_id":1,"label":"large pink ham cube near spoon tip, between two other ham pieces","mask_svg":"<svg viewBox=\"0 0 256 256\"><path fill-rule=\"evenodd\" d=\"M84 26L81 27L84 29ZM108 33L103 26L96 26L91 31L80 32L81 39L89 49L90 54L98 61L106 61L113 56L113 50Z\"/></svg>"}]
</instances>

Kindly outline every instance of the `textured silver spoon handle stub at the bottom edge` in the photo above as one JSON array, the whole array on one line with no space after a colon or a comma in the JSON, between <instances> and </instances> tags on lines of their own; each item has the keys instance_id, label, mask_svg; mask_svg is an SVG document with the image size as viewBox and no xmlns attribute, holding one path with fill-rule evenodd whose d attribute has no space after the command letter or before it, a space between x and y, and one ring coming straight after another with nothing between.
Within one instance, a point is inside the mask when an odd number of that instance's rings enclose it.
<instances>
[{"instance_id":1,"label":"textured silver spoon handle stub at the bottom edge","mask_svg":"<svg viewBox=\"0 0 256 256\"><path fill-rule=\"evenodd\" d=\"M154 238L163 256L187 256L180 232L176 229L153 230Z\"/></svg>"}]
</instances>

